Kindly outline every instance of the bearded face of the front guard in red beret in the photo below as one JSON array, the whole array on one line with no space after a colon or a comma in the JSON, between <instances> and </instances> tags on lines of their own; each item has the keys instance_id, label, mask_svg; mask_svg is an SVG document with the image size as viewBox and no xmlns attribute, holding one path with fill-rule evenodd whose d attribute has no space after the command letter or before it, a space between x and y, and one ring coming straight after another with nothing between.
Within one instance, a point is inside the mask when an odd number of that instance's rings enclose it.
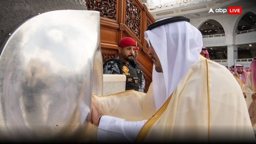
<instances>
[{"instance_id":1,"label":"bearded face of the front guard in red beret","mask_svg":"<svg viewBox=\"0 0 256 144\"><path fill-rule=\"evenodd\" d=\"M135 50L135 46L118 48L118 52L121 54L121 57L129 62L133 60L134 50Z\"/></svg>"}]
</instances>

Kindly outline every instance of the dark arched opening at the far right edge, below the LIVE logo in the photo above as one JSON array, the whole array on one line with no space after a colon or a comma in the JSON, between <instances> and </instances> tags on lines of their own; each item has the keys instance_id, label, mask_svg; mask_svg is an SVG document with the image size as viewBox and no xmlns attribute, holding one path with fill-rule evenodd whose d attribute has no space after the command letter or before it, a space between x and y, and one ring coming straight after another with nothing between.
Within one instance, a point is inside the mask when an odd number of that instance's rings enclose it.
<instances>
[{"instance_id":1,"label":"dark arched opening at the far right edge, below the LIVE logo","mask_svg":"<svg viewBox=\"0 0 256 144\"><path fill-rule=\"evenodd\" d=\"M252 12L248 12L242 16L236 25L236 32L241 32L245 30L256 28L256 15Z\"/></svg>"}]
</instances>

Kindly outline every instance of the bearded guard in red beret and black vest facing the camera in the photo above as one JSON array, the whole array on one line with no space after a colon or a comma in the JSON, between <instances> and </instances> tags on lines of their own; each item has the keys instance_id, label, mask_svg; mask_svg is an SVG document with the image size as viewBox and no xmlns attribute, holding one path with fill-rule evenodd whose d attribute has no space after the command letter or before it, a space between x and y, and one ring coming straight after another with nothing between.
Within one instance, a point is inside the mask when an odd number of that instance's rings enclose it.
<instances>
[{"instance_id":1,"label":"bearded guard in red beret and black vest facing the camera","mask_svg":"<svg viewBox=\"0 0 256 144\"><path fill-rule=\"evenodd\" d=\"M140 90L140 83L137 69L134 64L134 52L137 42L130 38L122 38L119 41L118 57L110 59L103 65L103 74L121 74L126 76L125 90Z\"/></svg>"}]
</instances>

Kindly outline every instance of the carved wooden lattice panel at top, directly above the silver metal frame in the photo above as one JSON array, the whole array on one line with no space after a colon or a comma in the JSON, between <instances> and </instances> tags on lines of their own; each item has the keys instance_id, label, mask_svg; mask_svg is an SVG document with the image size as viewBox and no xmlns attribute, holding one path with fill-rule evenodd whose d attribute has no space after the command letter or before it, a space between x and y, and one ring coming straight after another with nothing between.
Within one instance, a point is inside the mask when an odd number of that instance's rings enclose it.
<instances>
[{"instance_id":1,"label":"carved wooden lattice panel at top, directly above the silver metal frame","mask_svg":"<svg viewBox=\"0 0 256 144\"><path fill-rule=\"evenodd\" d=\"M100 12L100 16L116 20L116 0L85 0L87 9Z\"/></svg>"}]
</instances>

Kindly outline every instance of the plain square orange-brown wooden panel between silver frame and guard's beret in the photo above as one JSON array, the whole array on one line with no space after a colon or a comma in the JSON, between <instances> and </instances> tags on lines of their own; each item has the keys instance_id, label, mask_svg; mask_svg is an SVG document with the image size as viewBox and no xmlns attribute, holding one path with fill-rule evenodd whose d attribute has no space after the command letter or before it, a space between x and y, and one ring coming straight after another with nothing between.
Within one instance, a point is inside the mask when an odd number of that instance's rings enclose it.
<instances>
[{"instance_id":1,"label":"plain square orange-brown wooden panel between silver frame and guard's beret","mask_svg":"<svg viewBox=\"0 0 256 144\"><path fill-rule=\"evenodd\" d=\"M117 44L118 30L100 28L100 41Z\"/></svg>"}]
</instances>

